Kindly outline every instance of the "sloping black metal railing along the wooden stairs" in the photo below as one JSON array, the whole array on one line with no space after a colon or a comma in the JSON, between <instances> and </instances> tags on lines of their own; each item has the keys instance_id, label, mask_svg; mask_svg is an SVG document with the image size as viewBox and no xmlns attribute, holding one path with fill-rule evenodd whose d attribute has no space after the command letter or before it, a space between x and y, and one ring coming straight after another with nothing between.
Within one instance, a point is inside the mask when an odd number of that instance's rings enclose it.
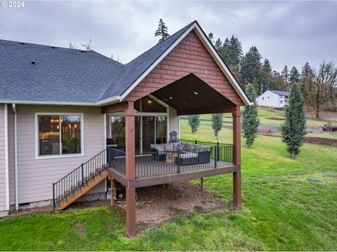
<instances>
[{"instance_id":1,"label":"sloping black metal railing along the wooden stairs","mask_svg":"<svg viewBox=\"0 0 337 252\"><path fill-rule=\"evenodd\" d=\"M86 186L88 181L107 169L109 148L101 151L95 157L84 162L69 174L65 175L59 181L53 183L53 208L57 207L62 200L69 195Z\"/></svg>"}]
</instances>

